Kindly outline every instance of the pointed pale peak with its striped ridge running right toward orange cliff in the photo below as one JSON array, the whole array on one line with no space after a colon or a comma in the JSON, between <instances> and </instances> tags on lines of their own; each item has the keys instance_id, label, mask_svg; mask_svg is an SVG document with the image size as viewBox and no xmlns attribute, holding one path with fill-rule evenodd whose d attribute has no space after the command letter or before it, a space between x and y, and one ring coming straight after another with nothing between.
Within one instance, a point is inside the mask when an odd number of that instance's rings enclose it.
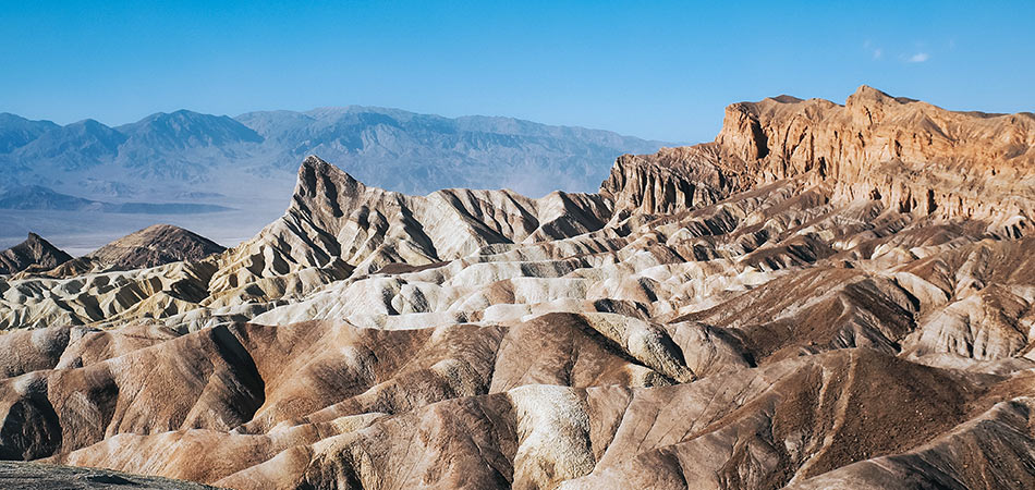
<instances>
[{"instance_id":1,"label":"pointed pale peak with its striped ridge running right toward orange cliff","mask_svg":"<svg viewBox=\"0 0 1035 490\"><path fill-rule=\"evenodd\" d=\"M402 262L451 260L489 244L557 240L597 230L608 204L585 194L529 199L510 191L446 189L407 196L367 187L307 157L283 218L220 259L215 295L305 269L369 273ZM254 294L254 293L253 293Z\"/></svg>"}]
</instances>

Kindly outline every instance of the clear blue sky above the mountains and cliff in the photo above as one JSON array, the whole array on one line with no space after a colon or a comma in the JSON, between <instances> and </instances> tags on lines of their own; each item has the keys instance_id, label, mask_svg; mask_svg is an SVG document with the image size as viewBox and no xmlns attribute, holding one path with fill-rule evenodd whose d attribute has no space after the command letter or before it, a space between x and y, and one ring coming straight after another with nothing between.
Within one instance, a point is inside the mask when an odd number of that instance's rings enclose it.
<instances>
[{"instance_id":1,"label":"clear blue sky above the mountains and cliff","mask_svg":"<svg viewBox=\"0 0 1035 490\"><path fill-rule=\"evenodd\" d=\"M356 103L699 142L730 102L860 84L1035 110L1032 1L0 5L0 111L59 123Z\"/></svg>"}]
</instances>

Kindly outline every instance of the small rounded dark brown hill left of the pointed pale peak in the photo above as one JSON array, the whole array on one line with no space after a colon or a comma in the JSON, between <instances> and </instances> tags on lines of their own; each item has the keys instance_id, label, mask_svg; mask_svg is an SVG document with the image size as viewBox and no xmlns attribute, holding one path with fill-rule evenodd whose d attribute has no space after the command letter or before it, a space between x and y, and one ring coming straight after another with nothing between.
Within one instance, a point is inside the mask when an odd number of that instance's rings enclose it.
<instances>
[{"instance_id":1,"label":"small rounded dark brown hill left of the pointed pale peak","mask_svg":"<svg viewBox=\"0 0 1035 490\"><path fill-rule=\"evenodd\" d=\"M87 255L117 270L141 269L178 261L197 261L226 247L180 226L156 224L109 243Z\"/></svg>"}]
</instances>

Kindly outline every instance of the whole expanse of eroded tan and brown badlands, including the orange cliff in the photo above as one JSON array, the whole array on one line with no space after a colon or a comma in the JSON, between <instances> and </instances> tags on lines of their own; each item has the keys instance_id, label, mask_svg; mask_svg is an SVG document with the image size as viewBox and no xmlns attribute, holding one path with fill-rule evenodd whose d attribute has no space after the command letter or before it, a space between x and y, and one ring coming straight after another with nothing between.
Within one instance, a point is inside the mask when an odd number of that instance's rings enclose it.
<instances>
[{"instance_id":1,"label":"whole expanse of eroded tan and brown badlands, including the orange cliff","mask_svg":"<svg viewBox=\"0 0 1035 490\"><path fill-rule=\"evenodd\" d=\"M239 247L0 281L0 456L239 489L1031 488L1031 121L782 96L539 199L309 157Z\"/></svg>"}]
</instances>

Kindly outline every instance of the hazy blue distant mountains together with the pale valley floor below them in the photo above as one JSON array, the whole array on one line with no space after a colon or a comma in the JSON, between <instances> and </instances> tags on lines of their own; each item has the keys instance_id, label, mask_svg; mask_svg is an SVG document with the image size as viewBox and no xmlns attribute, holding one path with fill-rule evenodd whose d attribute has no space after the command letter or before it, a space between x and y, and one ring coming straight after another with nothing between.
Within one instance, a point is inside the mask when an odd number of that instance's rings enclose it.
<instances>
[{"instance_id":1,"label":"hazy blue distant mountains together with the pale valley floor below them","mask_svg":"<svg viewBox=\"0 0 1035 490\"><path fill-rule=\"evenodd\" d=\"M106 213L162 215L232 244L279 216L299 162L310 154L372 185L409 194L468 187L540 196L596 191L616 157L665 145L512 118L451 119L358 106L236 118L180 110L115 127L0 113L0 245L24 240L27 231L62 245L62 233L76 226L114 226L97 238L100 244L147 224L121 225ZM210 215L192 218L230 208L240 216L221 223L240 232L223 224L206 229ZM47 215L42 228L12 224L34 221L22 216L32 210L75 212Z\"/></svg>"}]
</instances>

